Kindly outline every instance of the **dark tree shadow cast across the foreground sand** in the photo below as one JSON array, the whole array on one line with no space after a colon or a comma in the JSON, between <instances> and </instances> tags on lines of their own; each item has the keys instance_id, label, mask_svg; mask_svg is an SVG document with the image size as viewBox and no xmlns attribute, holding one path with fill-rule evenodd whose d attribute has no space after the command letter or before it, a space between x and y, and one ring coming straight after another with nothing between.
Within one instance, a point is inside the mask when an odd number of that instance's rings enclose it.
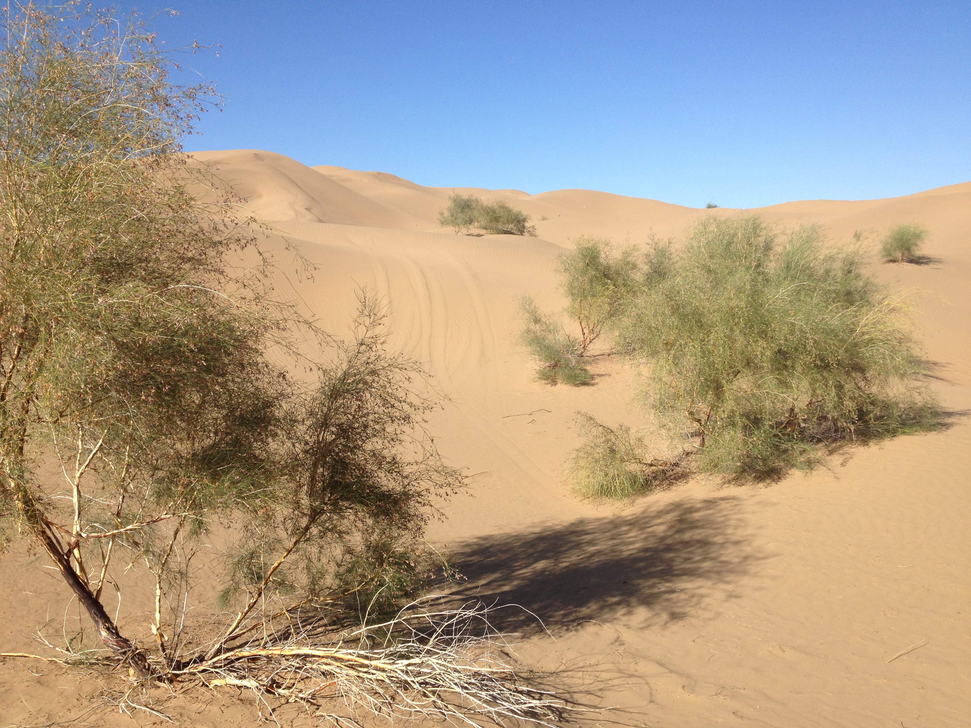
<instances>
[{"instance_id":1,"label":"dark tree shadow cast across the foreground sand","mask_svg":"<svg viewBox=\"0 0 971 728\"><path fill-rule=\"evenodd\" d=\"M489 536L452 552L468 579L452 594L519 605L560 630L589 619L668 623L730 598L735 579L761 558L744 529L737 499L722 497ZM495 622L520 634L542 629L515 609L496 612Z\"/></svg>"}]
</instances>

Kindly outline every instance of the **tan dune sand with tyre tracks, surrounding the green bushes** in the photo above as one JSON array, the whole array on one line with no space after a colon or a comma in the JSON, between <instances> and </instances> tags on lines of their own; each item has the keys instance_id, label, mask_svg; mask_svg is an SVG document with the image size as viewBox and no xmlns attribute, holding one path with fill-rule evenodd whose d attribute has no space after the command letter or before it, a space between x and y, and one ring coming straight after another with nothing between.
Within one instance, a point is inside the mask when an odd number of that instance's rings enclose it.
<instances>
[{"instance_id":1,"label":"tan dune sand with tyre tracks, surrounding the green bushes","mask_svg":"<svg viewBox=\"0 0 971 728\"><path fill-rule=\"evenodd\" d=\"M678 237L702 215L738 211L587 190L422 187L263 151L196 156L318 263L313 282L282 274L281 295L302 299L336 333L346 330L355 285L384 298L392 344L426 362L452 398L431 422L440 447L474 474L471 492L445 506L431 533L468 577L455 590L539 614L552 637L508 612L507 626L523 634L519 654L566 668L596 702L618 707L603 719L671 727L971 722L971 183L752 211L784 226L820 223L834 242L896 222L930 229L934 262L874 259L873 272L918 291L915 318L932 386L954 413L950 429L848 448L825 468L768 487L696 479L597 507L562 483L577 445L571 415L642 425L634 375L605 359L590 387L535 381L517 343L519 297L562 305L554 260L579 235L642 244L652 233ZM443 231L437 215L455 191L510 202L538 220L539 237ZM280 235L271 246L285 255ZM5 649L28 646L49 605L51 616L63 610L63 591L42 564L21 551L3 561ZM26 667L0 664L0 726L82 711L78 678L30 666L43 675L34 677ZM81 686L85 694L96 688ZM191 713L176 711L189 725L254 722L249 699L218 698ZM108 714L92 720L131 724Z\"/></svg>"}]
</instances>

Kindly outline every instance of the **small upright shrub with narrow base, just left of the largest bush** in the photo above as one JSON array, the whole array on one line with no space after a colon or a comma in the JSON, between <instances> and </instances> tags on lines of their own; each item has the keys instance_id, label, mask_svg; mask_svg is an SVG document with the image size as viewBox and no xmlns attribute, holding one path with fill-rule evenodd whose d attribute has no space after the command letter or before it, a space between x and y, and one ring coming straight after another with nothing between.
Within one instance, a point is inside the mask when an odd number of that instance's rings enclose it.
<instances>
[{"instance_id":1,"label":"small upright shrub with narrow base, just left of the largest bush","mask_svg":"<svg viewBox=\"0 0 971 728\"><path fill-rule=\"evenodd\" d=\"M567 312L580 327L581 355L619 314L636 287L638 267L633 248L615 254L602 238L581 237L572 251L559 256L557 272Z\"/></svg>"}]
</instances>

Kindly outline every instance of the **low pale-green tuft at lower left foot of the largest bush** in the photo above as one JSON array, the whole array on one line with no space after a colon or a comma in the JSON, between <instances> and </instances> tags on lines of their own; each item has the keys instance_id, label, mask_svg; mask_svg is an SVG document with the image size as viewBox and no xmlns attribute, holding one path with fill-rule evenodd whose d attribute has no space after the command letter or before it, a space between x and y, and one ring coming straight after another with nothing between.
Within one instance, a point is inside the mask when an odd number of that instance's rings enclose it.
<instances>
[{"instance_id":1,"label":"low pale-green tuft at lower left foot of the largest bush","mask_svg":"<svg viewBox=\"0 0 971 728\"><path fill-rule=\"evenodd\" d=\"M668 485L686 475L686 456L653 456L644 438L626 425L608 427L578 412L583 443L574 452L567 473L574 488L592 499L629 498Z\"/></svg>"}]
</instances>

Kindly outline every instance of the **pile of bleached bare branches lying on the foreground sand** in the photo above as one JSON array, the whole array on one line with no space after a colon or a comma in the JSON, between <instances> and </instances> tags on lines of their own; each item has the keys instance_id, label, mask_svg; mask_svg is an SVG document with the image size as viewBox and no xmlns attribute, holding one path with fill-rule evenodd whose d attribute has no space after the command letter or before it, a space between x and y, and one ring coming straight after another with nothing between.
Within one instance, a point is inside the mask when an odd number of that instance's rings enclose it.
<instances>
[{"instance_id":1,"label":"pile of bleached bare branches lying on the foreground sand","mask_svg":"<svg viewBox=\"0 0 971 728\"><path fill-rule=\"evenodd\" d=\"M336 698L352 711L441 717L476 728L504 719L553 726L584 710L530 684L503 650L509 635L492 628L489 612L482 604L430 612L416 603L389 621L324 642L310 623L189 660L172 677L246 687L264 701L318 705Z\"/></svg>"}]
</instances>

